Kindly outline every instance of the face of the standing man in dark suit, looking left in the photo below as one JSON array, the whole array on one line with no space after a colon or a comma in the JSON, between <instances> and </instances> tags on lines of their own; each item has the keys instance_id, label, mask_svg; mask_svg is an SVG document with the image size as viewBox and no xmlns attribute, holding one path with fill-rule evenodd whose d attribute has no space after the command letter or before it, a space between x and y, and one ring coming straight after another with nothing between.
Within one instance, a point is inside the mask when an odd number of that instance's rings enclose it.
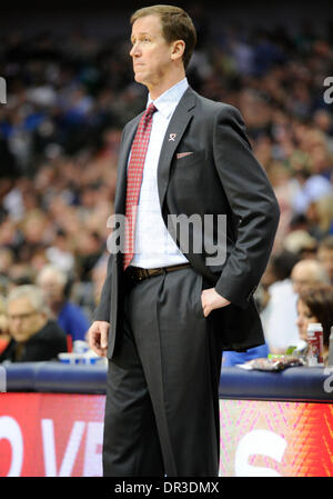
<instances>
[{"instance_id":1,"label":"face of the standing man in dark suit, looking left","mask_svg":"<svg viewBox=\"0 0 333 499\"><path fill-rule=\"evenodd\" d=\"M137 19L132 26L131 42L135 81L150 89L168 78L173 43L168 44L163 38L159 16Z\"/></svg>"}]
</instances>

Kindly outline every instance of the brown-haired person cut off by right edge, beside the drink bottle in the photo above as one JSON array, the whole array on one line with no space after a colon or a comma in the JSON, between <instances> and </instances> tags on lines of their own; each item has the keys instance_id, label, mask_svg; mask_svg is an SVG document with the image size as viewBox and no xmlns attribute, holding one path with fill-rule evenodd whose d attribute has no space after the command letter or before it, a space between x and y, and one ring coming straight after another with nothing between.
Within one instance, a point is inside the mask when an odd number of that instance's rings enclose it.
<instances>
[{"instance_id":1,"label":"brown-haired person cut off by right edge, beside the drink bottle","mask_svg":"<svg viewBox=\"0 0 333 499\"><path fill-rule=\"evenodd\" d=\"M329 360L330 333L333 326L333 286L317 285L303 289L297 301L297 328L303 341L297 351L306 355L307 326L320 322L323 327L324 365Z\"/></svg>"}]
</instances>

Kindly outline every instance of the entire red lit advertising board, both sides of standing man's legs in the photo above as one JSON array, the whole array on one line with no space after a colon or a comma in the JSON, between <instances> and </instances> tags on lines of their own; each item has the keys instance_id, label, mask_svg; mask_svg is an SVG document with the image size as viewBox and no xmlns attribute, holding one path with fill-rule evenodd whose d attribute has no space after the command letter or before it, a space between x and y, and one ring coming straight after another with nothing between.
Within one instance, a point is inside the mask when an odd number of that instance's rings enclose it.
<instances>
[{"instance_id":1,"label":"entire red lit advertising board, both sides of standing man's legs","mask_svg":"<svg viewBox=\"0 0 333 499\"><path fill-rule=\"evenodd\" d=\"M0 476L101 476L104 402L1 393ZM220 421L222 477L333 476L330 403L220 400Z\"/></svg>"}]
</instances>

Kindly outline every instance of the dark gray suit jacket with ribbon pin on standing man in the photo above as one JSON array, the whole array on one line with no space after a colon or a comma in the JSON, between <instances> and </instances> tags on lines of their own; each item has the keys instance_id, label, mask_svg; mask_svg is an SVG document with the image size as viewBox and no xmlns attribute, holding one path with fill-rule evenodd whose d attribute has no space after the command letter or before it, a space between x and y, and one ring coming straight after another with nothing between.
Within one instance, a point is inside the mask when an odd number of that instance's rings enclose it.
<instances>
[{"instance_id":1,"label":"dark gray suit jacket with ribbon pin on standing man","mask_svg":"<svg viewBox=\"0 0 333 499\"><path fill-rule=\"evenodd\" d=\"M114 212L124 213L127 162L142 114L123 130ZM172 139L170 137L172 134ZM191 154L178 158L181 152ZM193 213L226 216L226 258L208 265L202 251L183 251L193 268L231 305L216 309L214 325L221 330L224 350L245 350L263 343L263 331L253 292L265 270L280 210L263 168L254 158L240 112L232 106L205 99L189 88L167 130L159 166L158 188L162 216ZM169 226L170 227L170 226ZM193 242L193 231L190 238ZM176 233L170 231L178 247ZM216 243L213 227L212 243ZM206 242L206 241L205 241ZM218 242L219 243L219 242ZM110 255L108 275L94 320L111 323L108 357L111 358L122 319L122 257Z\"/></svg>"}]
</instances>

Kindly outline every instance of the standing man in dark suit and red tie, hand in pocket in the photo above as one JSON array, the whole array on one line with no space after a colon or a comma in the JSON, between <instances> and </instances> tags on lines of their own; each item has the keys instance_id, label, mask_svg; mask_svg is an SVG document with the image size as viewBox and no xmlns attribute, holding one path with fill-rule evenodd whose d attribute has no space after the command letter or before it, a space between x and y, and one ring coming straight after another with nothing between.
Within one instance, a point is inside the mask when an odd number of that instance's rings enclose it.
<instances>
[{"instance_id":1,"label":"standing man in dark suit and red tie, hand in pocket","mask_svg":"<svg viewBox=\"0 0 333 499\"><path fill-rule=\"evenodd\" d=\"M188 84L189 16L153 6L131 23L149 100L123 130L114 212L130 219L125 249L111 244L89 330L109 358L103 469L216 476L222 351L264 341L253 292L279 208L240 112Z\"/></svg>"}]
</instances>

